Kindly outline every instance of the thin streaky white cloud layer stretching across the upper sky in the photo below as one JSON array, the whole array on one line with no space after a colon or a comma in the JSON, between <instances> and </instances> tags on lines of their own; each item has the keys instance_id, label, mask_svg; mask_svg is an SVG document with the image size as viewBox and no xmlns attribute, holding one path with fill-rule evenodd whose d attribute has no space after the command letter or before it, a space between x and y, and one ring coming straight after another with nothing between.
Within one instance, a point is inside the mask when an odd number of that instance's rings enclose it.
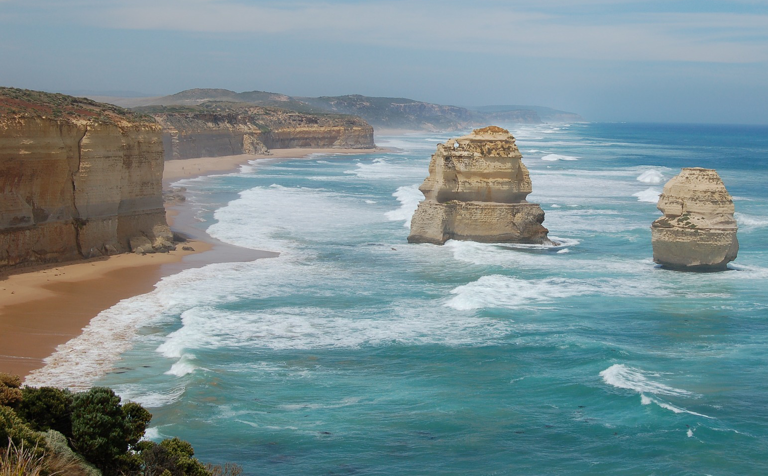
<instances>
[{"instance_id":1,"label":"thin streaky white cloud layer stretching across the upper sky","mask_svg":"<svg viewBox=\"0 0 768 476\"><path fill-rule=\"evenodd\" d=\"M2 0L0 0L2 1ZM572 2L283 2L81 0L81 21L108 28L291 35L336 43L435 52L495 51L504 57L613 61L768 61L768 15L611 13L565 15ZM580 5L630 4L588 0ZM636 2L635 2L636 3ZM53 4L51 4L53 5ZM71 5L70 5L71 6ZM54 7L55 8L55 7Z\"/></svg>"}]
</instances>

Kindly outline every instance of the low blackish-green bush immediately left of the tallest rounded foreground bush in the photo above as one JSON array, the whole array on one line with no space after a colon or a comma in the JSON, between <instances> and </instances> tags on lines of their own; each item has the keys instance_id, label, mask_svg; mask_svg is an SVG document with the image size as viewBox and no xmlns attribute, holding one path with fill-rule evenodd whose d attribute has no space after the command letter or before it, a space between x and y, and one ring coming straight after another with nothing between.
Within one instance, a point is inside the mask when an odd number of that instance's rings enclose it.
<instances>
[{"instance_id":1,"label":"low blackish-green bush immediately left of the tallest rounded foreground bush","mask_svg":"<svg viewBox=\"0 0 768 476\"><path fill-rule=\"evenodd\" d=\"M56 430L67 438L72 436L71 406L74 396L67 389L25 386L17 413L29 427L38 432Z\"/></svg>"}]
</instances>

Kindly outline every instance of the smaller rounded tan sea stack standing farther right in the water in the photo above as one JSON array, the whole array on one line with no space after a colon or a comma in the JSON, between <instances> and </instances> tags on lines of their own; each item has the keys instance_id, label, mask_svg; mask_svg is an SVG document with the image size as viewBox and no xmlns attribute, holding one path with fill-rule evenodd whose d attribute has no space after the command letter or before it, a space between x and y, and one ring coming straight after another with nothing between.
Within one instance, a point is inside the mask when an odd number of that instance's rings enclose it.
<instances>
[{"instance_id":1,"label":"smaller rounded tan sea stack standing farther right in the water","mask_svg":"<svg viewBox=\"0 0 768 476\"><path fill-rule=\"evenodd\" d=\"M713 169L682 169L666 185L650 227L654 261L681 271L723 271L739 241L733 199Z\"/></svg>"}]
</instances>

